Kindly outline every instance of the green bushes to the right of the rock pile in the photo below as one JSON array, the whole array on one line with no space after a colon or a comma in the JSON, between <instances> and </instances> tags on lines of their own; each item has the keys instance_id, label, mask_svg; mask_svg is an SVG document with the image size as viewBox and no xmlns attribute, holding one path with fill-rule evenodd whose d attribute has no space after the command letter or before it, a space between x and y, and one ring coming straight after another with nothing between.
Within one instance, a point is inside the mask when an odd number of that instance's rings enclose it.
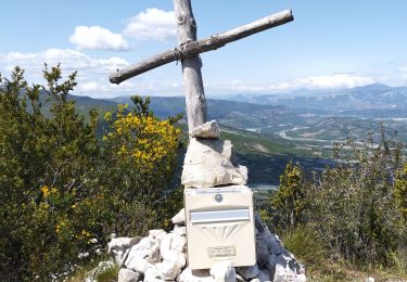
<instances>
[{"instance_id":1,"label":"green bushes to the right of the rock pile","mask_svg":"<svg viewBox=\"0 0 407 282\"><path fill-rule=\"evenodd\" d=\"M400 144L384 133L380 140L365 146L349 141L345 151L335 152L336 166L326 168L313 182L290 163L271 204L277 230L296 234L301 231L296 226L311 226L333 259L394 265L392 254L407 242L402 221L406 168L402 169ZM297 249L293 253L301 253Z\"/></svg>"}]
</instances>

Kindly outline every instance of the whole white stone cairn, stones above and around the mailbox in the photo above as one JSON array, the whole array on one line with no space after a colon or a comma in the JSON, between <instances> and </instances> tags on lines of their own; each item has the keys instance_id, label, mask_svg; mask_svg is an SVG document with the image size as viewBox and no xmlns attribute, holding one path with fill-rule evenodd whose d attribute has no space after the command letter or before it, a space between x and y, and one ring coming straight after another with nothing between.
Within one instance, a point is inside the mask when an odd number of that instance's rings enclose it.
<instances>
[{"instance_id":1,"label":"whole white stone cairn, stones above and around the mailbox","mask_svg":"<svg viewBox=\"0 0 407 282\"><path fill-rule=\"evenodd\" d=\"M185 187L211 188L245 184L247 169L237 165L229 140L219 139L216 121L208 121L191 132L183 164ZM145 238L114 238L109 253L120 266L119 282L234 282L234 281L306 281L305 270L284 249L280 239L255 216L256 265L234 268L231 261L220 261L211 269L187 267L185 210L173 217L174 229L151 230Z\"/></svg>"}]
</instances>

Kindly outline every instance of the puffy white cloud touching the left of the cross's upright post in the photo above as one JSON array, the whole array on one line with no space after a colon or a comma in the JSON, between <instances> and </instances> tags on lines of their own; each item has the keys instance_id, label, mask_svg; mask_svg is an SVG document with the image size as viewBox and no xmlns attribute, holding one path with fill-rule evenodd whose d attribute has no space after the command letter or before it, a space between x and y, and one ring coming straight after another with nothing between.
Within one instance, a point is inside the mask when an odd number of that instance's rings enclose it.
<instances>
[{"instance_id":1,"label":"puffy white cloud touching the left of the cross's upright post","mask_svg":"<svg viewBox=\"0 0 407 282\"><path fill-rule=\"evenodd\" d=\"M156 40L168 41L176 37L174 11L163 11L149 8L130 18L124 30L124 35L139 41Z\"/></svg>"}]
</instances>

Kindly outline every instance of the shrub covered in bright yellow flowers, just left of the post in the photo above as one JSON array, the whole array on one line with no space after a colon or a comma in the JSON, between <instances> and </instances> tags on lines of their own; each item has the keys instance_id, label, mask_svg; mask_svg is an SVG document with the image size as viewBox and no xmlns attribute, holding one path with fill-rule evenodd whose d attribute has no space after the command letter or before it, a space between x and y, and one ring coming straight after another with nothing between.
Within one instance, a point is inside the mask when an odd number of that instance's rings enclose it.
<instances>
[{"instance_id":1,"label":"shrub covered in bright yellow flowers, just left of the post","mask_svg":"<svg viewBox=\"0 0 407 282\"><path fill-rule=\"evenodd\" d=\"M181 132L174 126L176 120L160 120L153 115L148 98L132 99L132 111L119 104L115 114L104 116L109 128L103 153L112 168L105 176L127 201L151 202L167 189Z\"/></svg>"}]
</instances>

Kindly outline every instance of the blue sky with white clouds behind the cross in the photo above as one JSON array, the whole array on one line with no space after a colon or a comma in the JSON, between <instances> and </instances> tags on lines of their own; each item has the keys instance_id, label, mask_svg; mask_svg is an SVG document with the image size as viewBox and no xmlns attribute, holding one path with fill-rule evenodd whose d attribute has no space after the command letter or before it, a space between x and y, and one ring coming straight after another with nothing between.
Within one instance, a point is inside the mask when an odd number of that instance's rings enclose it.
<instances>
[{"instance_id":1,"label":"blue sky with white clouds behind the cross","mask_svg":"<svg viewBox=\"0 0 407 282\"><path fill-rule=\"evenodd\" d=\"M294 21L203 53L205 93L407 85L405 0L192 0L198 38L292 9ZM93 98L182 95L169 63L119 86L109 73L178 44L170 0L4 0L0 73L15 65L43 84L43 64L78 72L74 93Z\"/></svg>"}]
</instances>

